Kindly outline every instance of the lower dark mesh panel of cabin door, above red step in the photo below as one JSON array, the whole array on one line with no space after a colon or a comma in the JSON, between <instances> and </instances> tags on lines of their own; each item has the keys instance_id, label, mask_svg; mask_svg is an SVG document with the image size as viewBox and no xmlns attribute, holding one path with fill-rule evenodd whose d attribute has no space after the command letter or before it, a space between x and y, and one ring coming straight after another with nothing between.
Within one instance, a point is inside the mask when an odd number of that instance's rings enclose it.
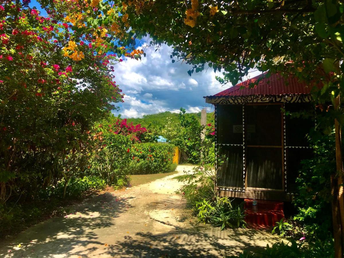
<instances>
[{"instance_id":1,"label":"lower dark mesh panel of cabin door, above red step","mask_svg":"<svg viewBox=\"0 0 344 258\"><path fill-rule=\"evenodd\" d=\"M246 148L247 187L282 190L281 148Z\"/></svg>"}]
</instances>

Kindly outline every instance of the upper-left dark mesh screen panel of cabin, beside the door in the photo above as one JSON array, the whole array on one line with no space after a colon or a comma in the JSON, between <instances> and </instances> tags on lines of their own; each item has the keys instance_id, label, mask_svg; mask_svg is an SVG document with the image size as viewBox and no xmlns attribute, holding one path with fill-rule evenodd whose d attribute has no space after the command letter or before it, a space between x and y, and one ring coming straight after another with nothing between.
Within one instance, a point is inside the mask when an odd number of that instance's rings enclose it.
<instances>
[{"instance_id":1,"label":"upper-left dark mesh screen panel of cabin, beside the door","mask_svg":"<svg viewBox=\"0 0 344 258\"><path fill-rule=\"evenodd\" d=\"M243 144L243 105L216 106L217 143Z\"/></svg>"}]
</instances>

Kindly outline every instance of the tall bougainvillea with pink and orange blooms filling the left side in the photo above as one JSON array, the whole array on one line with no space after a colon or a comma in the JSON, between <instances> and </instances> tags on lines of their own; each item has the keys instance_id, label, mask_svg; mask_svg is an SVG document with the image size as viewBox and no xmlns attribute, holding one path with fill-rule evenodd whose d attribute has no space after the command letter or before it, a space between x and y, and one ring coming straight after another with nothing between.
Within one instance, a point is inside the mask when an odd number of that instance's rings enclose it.
<instances>
[{"instance_id":1,"label":"tall bougainvillea with pink and orange blooms filling the left side","mask_svg":"<svg viewBox=\"0 0 344 258\"><path fill-rule=\"evenodd\" d=\"M114 2L0 1L0 220L37 193L83 179L93 127L122 101L121 55L140 58ZM0 221L0 224L2 224Z\"/></svg>"}]
</instances>

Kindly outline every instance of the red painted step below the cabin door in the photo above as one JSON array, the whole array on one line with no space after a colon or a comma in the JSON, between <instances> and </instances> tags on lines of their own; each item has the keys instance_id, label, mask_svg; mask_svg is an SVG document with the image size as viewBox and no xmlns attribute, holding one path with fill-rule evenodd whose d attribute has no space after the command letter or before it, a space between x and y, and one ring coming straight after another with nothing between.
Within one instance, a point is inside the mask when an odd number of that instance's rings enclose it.
<instances>
[{"instance_id":1,"label":"red painted step below the cabin door","mask_svg":"<svg viewBox=\"0 0 344 258\"><path fill-rule=\"evenodd\" d=\"M282 202L257 200L257 207L258 211L253 212L252 199L244 200L245 221L248 225L270 227L284 218Z\"/></svg>"}]
</instances>

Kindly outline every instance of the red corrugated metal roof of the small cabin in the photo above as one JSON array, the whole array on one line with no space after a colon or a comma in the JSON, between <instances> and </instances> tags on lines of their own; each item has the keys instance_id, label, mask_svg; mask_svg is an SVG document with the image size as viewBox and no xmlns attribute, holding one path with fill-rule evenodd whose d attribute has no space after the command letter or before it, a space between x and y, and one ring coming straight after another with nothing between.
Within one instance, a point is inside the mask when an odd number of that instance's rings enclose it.
<instances>
[{"instance_id":1,"label":"red corrugated metal roof of the small cabin","mask_svg":"<svg viewBox=\"0 0 344 258\"><path fill-rule=\"evenodd\" d=\"M247 95L284 95L284 94L309 94L312 87L307 87L307 83L299 82L295 77L289 76L283 78L280 74L271 74L269 78L263 78L258 85L250 88L250 84L255 82L263 73L237 85L230 87L213 96L207 97L225 97L225 96L247 96ZM240 89L240 87L245 87Z\"/></svg>"}]
</instances>

